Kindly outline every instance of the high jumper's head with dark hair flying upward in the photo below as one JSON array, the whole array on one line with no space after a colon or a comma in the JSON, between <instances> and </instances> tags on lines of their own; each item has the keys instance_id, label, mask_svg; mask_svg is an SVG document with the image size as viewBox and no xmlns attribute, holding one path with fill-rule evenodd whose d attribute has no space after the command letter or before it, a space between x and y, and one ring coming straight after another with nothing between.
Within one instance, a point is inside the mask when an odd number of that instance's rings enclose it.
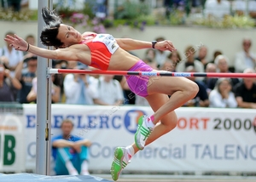
<instances>
[{"instance_id":1,"label":"high jumper's head with dark hair flying upward","mask_svg":"<svg viewBox=\"0 0 256 182\"><path fill-rule=\"evenodd\" d=\"M66 48L80 43L82 36L72 26L62 24L61 18L47 8L42 9L42 16L46 26L41 32L41 42L46 46Z\"/></svg>"}]
</instances>

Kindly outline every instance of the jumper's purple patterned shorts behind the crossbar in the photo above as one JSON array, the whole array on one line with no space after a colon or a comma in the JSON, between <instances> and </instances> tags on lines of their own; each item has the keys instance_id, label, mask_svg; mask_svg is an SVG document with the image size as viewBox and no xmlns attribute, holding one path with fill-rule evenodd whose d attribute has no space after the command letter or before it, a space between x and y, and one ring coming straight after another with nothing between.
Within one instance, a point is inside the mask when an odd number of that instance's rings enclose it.
<instances>
[{"instance_id":1,"label":"jumper's purple patterned shorts behind the crossbar","mask_svg":"<svg viewBox=\"0 0 256 182\"><path fill-rule=\"evenodd\" d=\"M145 64L143 60L137 61L135 65L129 69L129 71L153 71L153 68ZM148 96L148 79L146 76L125 76L129 88L134 94L142 97Z\"/></svg>"}]
</instances>

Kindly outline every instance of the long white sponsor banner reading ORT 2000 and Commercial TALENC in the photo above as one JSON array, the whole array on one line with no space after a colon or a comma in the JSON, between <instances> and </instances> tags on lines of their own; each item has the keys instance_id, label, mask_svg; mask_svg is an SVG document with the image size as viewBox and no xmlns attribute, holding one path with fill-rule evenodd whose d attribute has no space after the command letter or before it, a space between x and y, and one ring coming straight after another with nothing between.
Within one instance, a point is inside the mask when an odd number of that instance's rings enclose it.
<instances>
[{"instance_id":1,"label":"long white sponsor banner reading ORT 2000 and Commercial TALENC","mask_svg":"<svg viewBox=\"0 0 256 182\"><path fill-rule=\"evenodd\" d=\"M138 106L52 105L52 136L64 118L73 134L90 139L90 169L109 170L116 146L131 145L137 118L153 111ZM177 128L139 151L125 170L255 172L254 110L179 108ZM35 168L36 105L24 105L26 168Z\"/></svg>"}]
</instances>

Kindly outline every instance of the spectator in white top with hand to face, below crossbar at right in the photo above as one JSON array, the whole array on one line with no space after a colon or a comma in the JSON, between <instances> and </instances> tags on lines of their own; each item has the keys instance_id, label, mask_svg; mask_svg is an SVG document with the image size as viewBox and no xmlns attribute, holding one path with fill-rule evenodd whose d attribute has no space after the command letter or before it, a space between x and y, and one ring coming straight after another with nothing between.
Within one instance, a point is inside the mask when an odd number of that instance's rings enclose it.
<instances>
[{"instance_id":1,"label":"spectator in white top with hand to face, below crossbar at right","mask_svg":"<svg viewBox=\"0 0 256 182\"><path fill-rule=\"evenodd\" d=\"M229 78L219 78L209 94L210 107L235 108L237 102Z\"/></svg>"}]
</instances>

